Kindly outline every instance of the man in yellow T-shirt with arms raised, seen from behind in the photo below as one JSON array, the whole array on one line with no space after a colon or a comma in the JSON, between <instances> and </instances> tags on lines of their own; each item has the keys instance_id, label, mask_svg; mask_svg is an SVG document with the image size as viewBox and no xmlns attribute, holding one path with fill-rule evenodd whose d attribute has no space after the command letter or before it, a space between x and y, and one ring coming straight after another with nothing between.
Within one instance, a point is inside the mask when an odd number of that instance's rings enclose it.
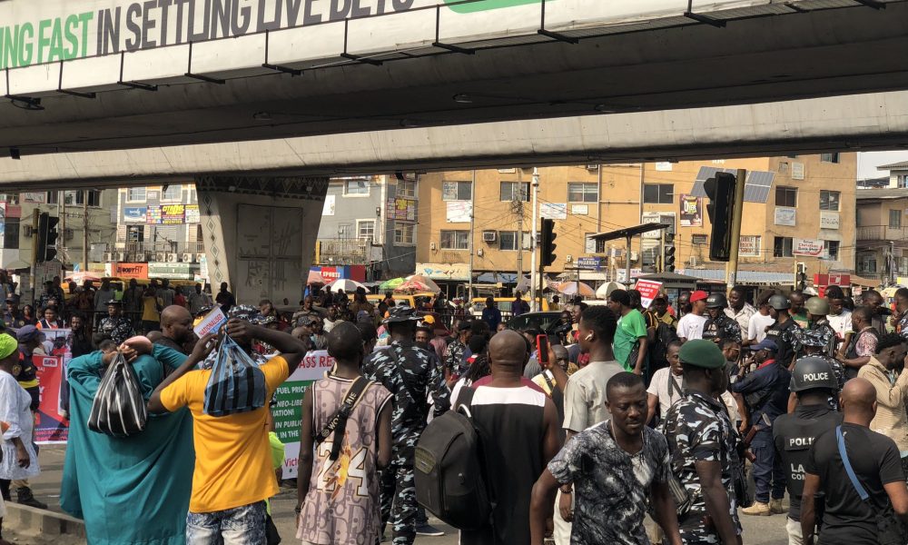
<instances>
[{"instance_id":1,"label":"man in yellow T-shirt with arms raised, seen from behind","mask_svg":"<svg viewBox=\"0 0 908 545\"><path fill-rule=\"evenodd\" d=\"M244 350L252 340L267 342L280 355L262 364L267 393L285 381L305 355L303 344L287 333L232 319L227 334ZM271 469L271 446L265 421L268 407L213 417L203 412L210 369L195 370L212 352L215 335L207 335L148 402L161 413L188 406L193 419L195 471L186 518L187 545L224 545L265 542L265 500L278 493Z\"/></svg>"}]
</instances>

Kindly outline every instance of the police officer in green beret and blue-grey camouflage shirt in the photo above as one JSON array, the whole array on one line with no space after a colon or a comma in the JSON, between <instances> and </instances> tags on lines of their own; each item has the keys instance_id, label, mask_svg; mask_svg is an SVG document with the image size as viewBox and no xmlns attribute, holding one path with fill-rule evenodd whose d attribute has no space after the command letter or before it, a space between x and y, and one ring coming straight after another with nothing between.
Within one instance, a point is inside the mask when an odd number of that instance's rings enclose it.
<instances>
[{"instance_id":1,"label":"police officer in green beret and blue-grey camouflage shirt","mask_svg":"<svg viewBox=\"0 0 908 545\"><path fill-rule=\"evenodd\" d=\"M686 545L740 543L735 468L737 435L718 396L728 388L725 357L715 342L685 342L678 354L685 395L666 414L672 473L692 499L678 520ZM718 478L721 487L704 486Z\"/></svg>"}]
</instances>

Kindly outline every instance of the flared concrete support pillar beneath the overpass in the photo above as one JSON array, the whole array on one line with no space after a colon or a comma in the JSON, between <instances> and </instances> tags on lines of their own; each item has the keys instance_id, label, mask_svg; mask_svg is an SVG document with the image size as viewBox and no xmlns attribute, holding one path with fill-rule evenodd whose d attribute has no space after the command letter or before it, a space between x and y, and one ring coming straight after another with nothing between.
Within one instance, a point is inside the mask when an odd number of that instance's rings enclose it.
<instances>
[{"instance_id":1,"label":"flared concrete support pillar beneath the overpass","mask_svg":"<svg viewBox=\"0 0 908 545\"><path fill-rule=\"evenodd\" d=\"M243 304L299 302L328 178L200 176L195 183L212 292L227 282Z\"/></svg>"}]
</instances>

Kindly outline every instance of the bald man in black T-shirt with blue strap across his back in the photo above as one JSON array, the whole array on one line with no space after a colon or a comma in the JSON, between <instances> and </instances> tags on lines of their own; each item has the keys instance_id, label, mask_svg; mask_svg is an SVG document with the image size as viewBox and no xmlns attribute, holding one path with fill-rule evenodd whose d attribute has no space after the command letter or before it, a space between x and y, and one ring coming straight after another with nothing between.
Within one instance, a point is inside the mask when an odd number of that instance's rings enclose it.
<instances>
[{"instance_id":1,"label":"bald man in black T-shirt with blue strap across his back","mask_svg":"<svg viewBox=\"0 0 908 545\"><path fill-rule=\"evenodd\" d=\"M813 545L816 516L814 495L825 494L821 545L833 543L888 543L878 530L877 515L891 505L895 515L908 522L908 488L895 442L869 426L876 414L876 389L862 378L845 382L840 397L844 419L841 426L821 433L804 466L804 496L801 530L804 543ZM857 481L868 495L866 501L854 488L841 456L838 437ZM896 525L894 517L886 520ZM903 542L903 541L902 541Z\"/></svg>"}]
</instances>

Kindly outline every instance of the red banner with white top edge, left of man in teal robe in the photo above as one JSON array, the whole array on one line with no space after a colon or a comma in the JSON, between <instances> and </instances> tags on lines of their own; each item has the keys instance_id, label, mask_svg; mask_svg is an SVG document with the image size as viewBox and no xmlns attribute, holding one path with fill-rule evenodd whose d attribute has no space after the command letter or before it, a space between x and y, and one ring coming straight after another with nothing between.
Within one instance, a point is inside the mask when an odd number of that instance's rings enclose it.
<instances>
[{"instance_id":1,"label":"red banner with white top edge, left of man in teal robe","mask_svg":"<svg viewBox=\"0 0 908 545\"><path fill-rule=\"evenodd\" d=\"M50 352L46 356L32 356L41 385L41 404L35 419L35 442L64 443L69 438L69 421L62 414L64 405L69 403L69 391L64 389L64 377L66 365L73 357L66 341L72 331L58 329L42 332L47 339L44 350L50 349Z\"/></svg>"}]
</instances>

